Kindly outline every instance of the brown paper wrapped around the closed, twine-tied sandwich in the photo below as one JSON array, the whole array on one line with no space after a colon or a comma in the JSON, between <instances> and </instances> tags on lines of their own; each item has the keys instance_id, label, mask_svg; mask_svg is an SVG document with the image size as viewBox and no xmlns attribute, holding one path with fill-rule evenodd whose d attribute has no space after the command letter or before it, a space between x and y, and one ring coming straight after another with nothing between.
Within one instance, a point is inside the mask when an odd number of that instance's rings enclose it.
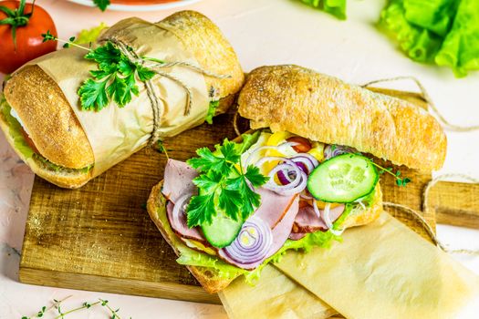
<instances>
[{"instance_id":1,"label":"brown paper wrapped around the closed, twine-tied sandwich","mask_svg":"<svg viewBox=\"0 0 479 319\"><path fill-rule=\"evenodd\" d=\"M139 18L120 21L110 27L99 42L109 38L131 46L139 56L199 65L172 32ZM133 96L124 108L111 103L100 111L82 110L78 101L78 87L89 77L89 70L97 68L95 63L83 58L86 53L85 50L71 47L40 57L30 65L41 67L57 82L68 99L93 149L95 165L92 174L95 177L148 143L153 130L153 111L145 86L140 81L139 96ZM184 116L187 97L185 89L171 79L155 76L152 81L164 110L160 121L161 138L171 137L200 124L209 107L208 89L202 74L187 67L170 67L164 71L180 78L191 88L193 106L190 114Z\"/></svg>"}]
</instances>

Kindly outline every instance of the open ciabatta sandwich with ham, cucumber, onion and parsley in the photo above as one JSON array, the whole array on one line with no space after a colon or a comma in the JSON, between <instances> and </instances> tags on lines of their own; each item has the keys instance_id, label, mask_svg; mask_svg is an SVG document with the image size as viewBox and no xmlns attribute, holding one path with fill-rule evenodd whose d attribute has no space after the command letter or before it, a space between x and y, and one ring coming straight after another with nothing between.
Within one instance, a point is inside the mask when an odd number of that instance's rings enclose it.
<instances>
[{"instance_id":1,"label":"open ciabatta sandwich with ham, cucumber, onion and parsley","mask_svg":"<svg viewBox=\"0 0 479 319\"><path fill-rule=\"evenodd\" d=\"M169 160L148 201L178 262L209 293L376 220L387 169L372 156L425 171L445 158L445 135L427 112L303 67L255 69L238 107L255 130Z\"/></svg>"}]
</instances>

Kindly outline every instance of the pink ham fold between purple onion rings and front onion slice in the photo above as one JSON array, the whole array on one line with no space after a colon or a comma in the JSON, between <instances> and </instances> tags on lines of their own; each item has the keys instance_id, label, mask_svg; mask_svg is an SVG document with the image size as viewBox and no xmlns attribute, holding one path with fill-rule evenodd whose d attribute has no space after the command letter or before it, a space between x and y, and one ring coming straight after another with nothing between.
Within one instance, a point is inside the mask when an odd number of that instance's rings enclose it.
<instances>
[{"instance_id":1,"label":"pink ham fold between purple onion rings and front onion slice","mask_svg":"<svg viewBox=\"0 0 479 319\"><path fill-rule=\"evenodd\" d=\"M266 221L269 228L274 229L286 215L297 195L282 196L264 188L255 191L261 196L261 205L255 211L255 216Z\"/></svg>"}]
</instances>

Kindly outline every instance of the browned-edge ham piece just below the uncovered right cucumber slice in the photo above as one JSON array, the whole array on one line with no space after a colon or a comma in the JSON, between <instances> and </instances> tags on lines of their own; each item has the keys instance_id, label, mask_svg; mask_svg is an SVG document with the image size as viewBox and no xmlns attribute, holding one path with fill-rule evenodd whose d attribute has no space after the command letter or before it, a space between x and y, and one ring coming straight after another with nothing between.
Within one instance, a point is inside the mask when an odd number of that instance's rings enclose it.
<instances>
[{"instance_id":1,"label":"browned-edge ham piece just below the uncovered right cucumber slice","mask_svg":"<svg viewBox=\"0 0 479 319\"><path fill-rule=\"evenodd\" d=\"M329 213L331 221L334 222L338 220L343 211L344 205L332 208ZM321 211L321 214L322 212L323 211ZM326 222L318 217L312 206L307 205L299 209L293 226L293 232L325 232L327 230L328 226L326 226Z\"/></svg>"}]
</instances>

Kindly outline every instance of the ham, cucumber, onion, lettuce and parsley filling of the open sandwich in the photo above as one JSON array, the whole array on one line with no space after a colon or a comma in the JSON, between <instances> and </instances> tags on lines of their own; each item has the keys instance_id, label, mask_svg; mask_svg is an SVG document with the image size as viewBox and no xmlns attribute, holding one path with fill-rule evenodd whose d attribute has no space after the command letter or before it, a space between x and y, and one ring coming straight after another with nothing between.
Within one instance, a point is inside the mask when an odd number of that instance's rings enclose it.
<instances>
[{"instance_id":1,"label":"ham, cucumber, onion, lettuce and parsley filling of the open sandwich","mask_svg":"<svg viewBox=\"0 0 479 319\"><path fill-rule=\"evenodd\" d=\"M234 144L229 146L232 152L241 149L231 168L247 168L247 190L259 201L245 215L241 201L246 197L236 191L241 179L236 173L227 172L229 179L214 173L223 165L214 157L232 157L228 147L218 146L211 155L188 163L169 160L161 192L167 200L168 229L184 244L178 247L179 263L207 267L225 278L245 274L251 282L289 249L309 251L340 241L350 218L380 202L379 174L355 149L269 131L244 135L240 144L225 140L227 144ZM213 171L205 172L208 160ZM196 221L198 211L209 211L208 201L211 216Z\"/></svg>"}]
</instances>

